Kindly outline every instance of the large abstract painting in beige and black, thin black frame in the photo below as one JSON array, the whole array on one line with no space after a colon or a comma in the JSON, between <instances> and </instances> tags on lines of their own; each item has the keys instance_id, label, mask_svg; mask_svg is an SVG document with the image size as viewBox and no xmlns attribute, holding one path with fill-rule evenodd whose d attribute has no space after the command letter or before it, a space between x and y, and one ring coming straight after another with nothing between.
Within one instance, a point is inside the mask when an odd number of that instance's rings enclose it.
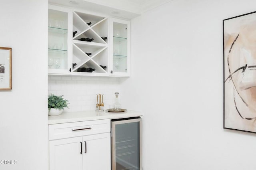
<instances>
[{"instance_id":1,"label":"large abstract painting in beige and black, thin black frame","mask_svg":"<svg viewBox=\"0 0 256 170\"><path fill-rule=\"evenodd\" d=\"M223 20L224 128L256 133L256 12Z\"/></svg>"}]
</instances>

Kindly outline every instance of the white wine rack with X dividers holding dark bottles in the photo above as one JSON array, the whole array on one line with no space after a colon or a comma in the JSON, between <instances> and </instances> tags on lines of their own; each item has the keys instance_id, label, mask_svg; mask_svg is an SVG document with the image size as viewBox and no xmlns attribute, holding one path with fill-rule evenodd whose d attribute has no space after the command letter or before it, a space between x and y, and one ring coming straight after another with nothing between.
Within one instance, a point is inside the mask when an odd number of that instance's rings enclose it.
<instances>
[{"instance_id":1,"label":"white wine rack with X dividers holding dark bottles","mask_svg":"<svg viewBox=\"0 0 256 170\"><path fill-rule=\"evenodd\" d=\"M108 20L107 18L73 12L73 72L79 68L93 68L95 73L108 73ZM92 42L81 39L94 39ZM101 67L102 66L102 67ZM84 74L84 73L82 73Z\"/></svg>"}]
</instances>

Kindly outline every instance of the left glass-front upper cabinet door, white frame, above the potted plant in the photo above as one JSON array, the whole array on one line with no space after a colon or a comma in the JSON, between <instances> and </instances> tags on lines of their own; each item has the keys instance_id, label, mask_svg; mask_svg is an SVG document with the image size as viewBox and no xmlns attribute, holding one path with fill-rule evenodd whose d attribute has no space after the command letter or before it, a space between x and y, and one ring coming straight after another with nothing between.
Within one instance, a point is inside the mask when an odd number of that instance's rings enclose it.
<instances>
[{"instance_id":1,"label":"left glass-front upper cabinet door, white frame, above the potted plant","mask_svg":"<svg viewBox=\"0 0 256 170\"><path fill-rule=\"evenodd\" d=\"M48 9L48 73L69 74L72 61L69 61L71 12L65 8L50 6Z\"/></svg>"}]
</instances>

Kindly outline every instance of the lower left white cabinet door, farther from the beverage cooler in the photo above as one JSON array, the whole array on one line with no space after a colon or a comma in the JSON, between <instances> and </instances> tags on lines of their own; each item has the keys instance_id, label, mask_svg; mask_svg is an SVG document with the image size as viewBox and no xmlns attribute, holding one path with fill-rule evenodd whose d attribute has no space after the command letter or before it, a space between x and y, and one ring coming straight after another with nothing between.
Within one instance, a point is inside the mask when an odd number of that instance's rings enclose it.
<instances>
[{"instance_id":1,"label":"lower left white cabinet door, farther from the beverage cooler","mask_svg":"<svg viewBox=\"0 0 256 170\"><path fill-rule=\"evenodd\" d=\"M49 170L82 170L82 137L49 142Z\"/></svg>"}]
</instances>

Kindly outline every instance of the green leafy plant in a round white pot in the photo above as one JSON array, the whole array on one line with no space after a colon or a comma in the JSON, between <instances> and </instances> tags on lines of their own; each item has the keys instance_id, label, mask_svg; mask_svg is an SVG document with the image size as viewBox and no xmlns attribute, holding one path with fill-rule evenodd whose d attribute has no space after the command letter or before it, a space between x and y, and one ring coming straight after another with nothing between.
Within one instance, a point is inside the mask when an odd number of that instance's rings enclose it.
<instances>
[{"instance_id":1,"label":"green leafy plant in a round white pot","mask_svg":"<svg viewBox=\"0 0 256 170\"><path fill-rule=\"evenodd\" d=\"M56 96L51 93L48 95L48 115L60 115L64 107L68 108L68 104L68 100L63 99L63 95Z\"/></svg>"}]
</instances>

